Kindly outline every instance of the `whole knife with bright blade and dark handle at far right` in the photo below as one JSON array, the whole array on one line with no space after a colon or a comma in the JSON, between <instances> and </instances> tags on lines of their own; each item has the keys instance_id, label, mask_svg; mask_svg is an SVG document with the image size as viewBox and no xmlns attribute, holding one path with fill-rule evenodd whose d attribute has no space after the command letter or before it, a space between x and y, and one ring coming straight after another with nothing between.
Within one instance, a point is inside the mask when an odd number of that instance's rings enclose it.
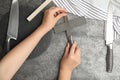
<instances>
[{"instance_id":1,"label":"whole knife with bright blade and dark handle at far right","mask_svg":"<svg viewBox=\"0 0 120 80\"><path fill-rule=\"evenodd\" d=\"M112 72L113 69L113 40L114 40L114 30L113 30L113 14L111 11L108 12L106 29L105 29L105 40L107 46L106 54L106 71Z\"/></svg>"}]
</instances>

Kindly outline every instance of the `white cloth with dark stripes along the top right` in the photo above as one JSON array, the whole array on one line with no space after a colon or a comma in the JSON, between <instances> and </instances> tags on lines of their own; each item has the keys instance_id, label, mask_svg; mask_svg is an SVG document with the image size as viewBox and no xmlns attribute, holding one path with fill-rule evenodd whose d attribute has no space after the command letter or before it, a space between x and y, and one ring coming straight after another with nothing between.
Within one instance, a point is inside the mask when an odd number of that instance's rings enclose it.
<instances>
[{"instance_id":1,"label":"white cloth with dark stripes along the top right","mask_svg":"<svg viewBox=\"0 0 120 80\"><path fill-rule=\"evenodd\" d=\"M113 12L114 39L120 38L120 3L119 0L53 0L53 2L69 13L86 18L106 20L108 6Z\"/></svg>"}]
</instances>

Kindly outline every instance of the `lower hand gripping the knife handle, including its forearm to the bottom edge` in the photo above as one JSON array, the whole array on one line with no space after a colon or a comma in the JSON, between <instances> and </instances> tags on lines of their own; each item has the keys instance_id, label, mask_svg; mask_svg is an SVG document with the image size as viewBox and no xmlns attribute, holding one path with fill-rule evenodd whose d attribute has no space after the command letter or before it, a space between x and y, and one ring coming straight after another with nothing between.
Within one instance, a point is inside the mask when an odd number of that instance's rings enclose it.
<instances>
[{"instance_id":1,"label":"lower hand gripping the knife handle, including its forearm to the bottom edge","mask_svg":"<svg viewBox=\"0 0 120 80\"><path fill-rule=\"evenodd\" d=\"M80 49L76 42L68 44L60 63L59 80L70 80L72 70L80 64Z\"/></svg>"}]
</instances>

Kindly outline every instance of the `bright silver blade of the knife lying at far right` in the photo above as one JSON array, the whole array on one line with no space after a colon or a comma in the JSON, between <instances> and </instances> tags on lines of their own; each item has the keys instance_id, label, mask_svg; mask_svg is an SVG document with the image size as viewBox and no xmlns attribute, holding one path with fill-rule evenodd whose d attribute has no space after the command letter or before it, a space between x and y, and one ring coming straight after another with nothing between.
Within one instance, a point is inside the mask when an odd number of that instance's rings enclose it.
<instances>
[{"instance_id":1,"label":"bright silver blade of the knife lying at far right","mask_svg":"<svg viewBox=\"0 0 120 80\"><path fill-rule=\"evenodd\" d=\"M106 45L111 44L114 40L113 14L111 12L108 13L105 31Z\"/></svg>"}]
</instances>

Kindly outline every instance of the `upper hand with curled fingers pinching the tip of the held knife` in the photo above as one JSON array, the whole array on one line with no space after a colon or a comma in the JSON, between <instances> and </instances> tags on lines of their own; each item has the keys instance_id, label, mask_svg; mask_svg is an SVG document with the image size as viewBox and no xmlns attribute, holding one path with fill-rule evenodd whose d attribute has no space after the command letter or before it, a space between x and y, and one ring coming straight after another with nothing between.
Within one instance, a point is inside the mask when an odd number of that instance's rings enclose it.
<instances>
[{"instance_id":1,"label":"upper hand with curled fingers pinching the tip of the held knife","mask_svg":"<svg viewBox=\"0 0 120 80\"><path fill-rule=\"evenodd\" d=\"M67 11L63 8L52 7L45 11L42 25L46 27L46 29L51 30L57 21L63 16L67 15Z\"/></svg>"}]
</instances>

